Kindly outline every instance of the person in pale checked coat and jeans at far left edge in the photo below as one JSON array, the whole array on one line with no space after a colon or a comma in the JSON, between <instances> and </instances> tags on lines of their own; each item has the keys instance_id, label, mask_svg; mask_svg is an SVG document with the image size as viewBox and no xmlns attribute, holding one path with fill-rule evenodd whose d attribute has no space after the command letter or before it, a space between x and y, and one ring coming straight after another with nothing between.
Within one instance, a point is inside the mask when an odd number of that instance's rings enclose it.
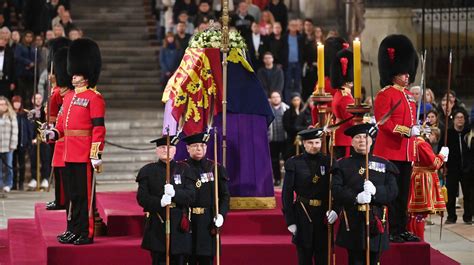
<instances>
[{"instance_id":1,"label":"person in pale checked coat and jeans at far left edge","mask_svg":"<svg viewBox=\"0 0 474 265\"><path fill-rule=\"evenodd\" d=\"M18 145L18 122L10 101L0 96L0 187L10 192L13 186L13 151ZM6 178L3 175L6 166Z\"/></svg>"}]
</instances>

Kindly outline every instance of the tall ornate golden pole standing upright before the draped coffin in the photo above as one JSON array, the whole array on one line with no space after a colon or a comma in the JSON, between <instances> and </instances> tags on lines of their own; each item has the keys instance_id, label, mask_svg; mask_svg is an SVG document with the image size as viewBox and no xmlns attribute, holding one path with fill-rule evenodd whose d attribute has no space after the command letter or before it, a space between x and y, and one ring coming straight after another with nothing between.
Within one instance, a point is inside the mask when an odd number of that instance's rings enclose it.
<instances>
[{"instance_id":1,"label":"tall ornate golden pole standing upright before the draped coffin","mask_svg":"<svg viewBox=\"0 0 474 265\"><path fill-rule=\"evenodd\" d=\"M229 52L229 0L222 0L222 165L227 162L227 53ZM219 261L219 259L217 259Z\"/></svg>"}]
</instances>

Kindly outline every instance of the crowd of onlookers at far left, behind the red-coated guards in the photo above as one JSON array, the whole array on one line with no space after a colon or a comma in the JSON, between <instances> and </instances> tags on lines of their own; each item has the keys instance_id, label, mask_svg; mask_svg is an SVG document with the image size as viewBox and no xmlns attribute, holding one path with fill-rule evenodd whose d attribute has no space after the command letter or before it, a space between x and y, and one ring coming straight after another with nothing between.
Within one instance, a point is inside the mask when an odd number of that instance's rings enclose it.
<instances>
[{"instance_id":1,"label":"crowd of onlookers at far left, behind the red-coated guards","mask_svg":"<svg viewBox=\"0 0 474 265\"><path fill-rule=\"evenodd\" d=\"M37 146L37 129L38 123L47 120L49 46L59 37L72 41L83 33L72 21L68 0L1 2L0 131L4 137L0 139L0 186L5 192L23 190L29 160L31 179L26 188L33 190L39 184L46 189L52 148L44 142Z\"/></svg>"}]
</instances>

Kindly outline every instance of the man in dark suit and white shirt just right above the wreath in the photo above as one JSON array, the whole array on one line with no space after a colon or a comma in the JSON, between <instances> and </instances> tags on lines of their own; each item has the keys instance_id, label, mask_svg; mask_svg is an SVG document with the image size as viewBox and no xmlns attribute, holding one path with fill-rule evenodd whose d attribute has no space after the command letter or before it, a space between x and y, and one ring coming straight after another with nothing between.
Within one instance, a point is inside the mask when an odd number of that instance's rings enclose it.
<instances>
[{"instance_id":1,"label":"man in dark suit and white shirt just right above the wreath","mask_svg":"<svg viewBox=\"0 0 474 265\"><path fill-rule=\"evenodd\" d=\"M254 69L263 65L263 55L268 49L268 39L260 34L257 22L252 22L252 33L246 37L247 49Z\"/></svg>"}]
</instances>

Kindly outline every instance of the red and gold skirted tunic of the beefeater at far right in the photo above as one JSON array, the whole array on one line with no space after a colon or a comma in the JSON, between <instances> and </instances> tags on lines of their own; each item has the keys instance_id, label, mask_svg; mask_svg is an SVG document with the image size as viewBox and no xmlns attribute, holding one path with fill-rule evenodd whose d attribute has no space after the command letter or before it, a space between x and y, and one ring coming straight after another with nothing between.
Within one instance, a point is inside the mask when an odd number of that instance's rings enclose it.
<instances>
[{"instance_id":1,"label":"red and gold skirted tunic of the beefeater at far right","mask_svg":"<svg viewBox=\"0 0 474 265\"><path fill-rule=\"evenodd\" d=\"M411 174L408 212L435 213L446 210L437 170L443 165L443 156L435 155L423 138L415 140L416 158Z\"/></svg>"}]
</instances>

